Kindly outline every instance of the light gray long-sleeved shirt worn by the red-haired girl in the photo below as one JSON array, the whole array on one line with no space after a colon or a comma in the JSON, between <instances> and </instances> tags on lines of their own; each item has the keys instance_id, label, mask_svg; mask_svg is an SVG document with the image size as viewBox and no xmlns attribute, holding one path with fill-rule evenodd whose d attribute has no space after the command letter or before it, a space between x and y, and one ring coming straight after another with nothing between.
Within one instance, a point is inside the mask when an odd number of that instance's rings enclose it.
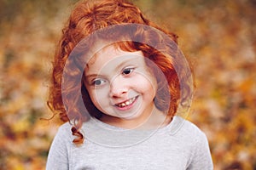
<instances>
[{"instance_id":1,"label":"light gray long-sleeved shirt worn by the red-haired girl","mask_svg":"<svg viewBox=\"0 0 256 170\"><path fill-rule=\"evenodd\" d=\"M73 144L63 124L49 150L47 170L212 170L207 137L193 123L174 116L166 127L127 130L91 118L84 122L84 144Z\"/></svg>"}]
</instances>

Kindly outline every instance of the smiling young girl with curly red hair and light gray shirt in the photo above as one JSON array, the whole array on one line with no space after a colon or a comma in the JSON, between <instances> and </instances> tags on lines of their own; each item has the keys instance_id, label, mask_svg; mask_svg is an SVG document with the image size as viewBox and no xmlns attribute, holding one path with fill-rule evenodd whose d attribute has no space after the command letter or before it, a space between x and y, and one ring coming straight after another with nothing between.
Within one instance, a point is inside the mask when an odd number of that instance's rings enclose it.
<instances>
[{"instance_id":1,"label":"smiling young girl with curly red hair and light gray shirt","mask_svg":"<svg viewBox=\"0 0 256 170\"><path fill-rule=\"evenodd\" d=\"M206 135L177 116L192 96L177 36L134 4L78 3L51 83L49 107L66 123L47 169L212 169Z\"/></svg>"}]
</instances>

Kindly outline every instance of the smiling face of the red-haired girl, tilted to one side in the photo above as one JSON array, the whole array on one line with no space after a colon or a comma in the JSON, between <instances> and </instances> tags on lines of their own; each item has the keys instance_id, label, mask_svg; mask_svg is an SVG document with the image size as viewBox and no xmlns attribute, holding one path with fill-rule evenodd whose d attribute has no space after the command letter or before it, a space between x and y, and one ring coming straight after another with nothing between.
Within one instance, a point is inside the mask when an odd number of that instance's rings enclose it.
<instances>
[{"instance_id":1,"label":"smiling face of the red-haired girl, tilted to one side","mask_svg":"<svg viewBox=\"0 0 256 170\"><path fill-rule=\"evenodd\" d=\"M141 51L103 48L85 68L84 84L102 121L140 123L154 108L157 82Z\"/></svg>"}]
</instances>

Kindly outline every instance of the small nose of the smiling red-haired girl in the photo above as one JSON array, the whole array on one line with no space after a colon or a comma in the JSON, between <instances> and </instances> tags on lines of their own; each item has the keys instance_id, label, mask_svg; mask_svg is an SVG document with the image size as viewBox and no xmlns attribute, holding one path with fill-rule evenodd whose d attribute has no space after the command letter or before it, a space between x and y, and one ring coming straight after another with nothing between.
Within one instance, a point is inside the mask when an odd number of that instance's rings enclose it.
<instances>
[{"instance_id":1,"label":"small nose of the smiling red-haired girl","mask_svg":"<svg viewBox=\"0 0 256 170\"><path fill-rule=\"evenodd\" d=\"M123 77L115 77L110 83L110 97L120 98L128 93L127 83Z\"/></svg>"}]
</instances>

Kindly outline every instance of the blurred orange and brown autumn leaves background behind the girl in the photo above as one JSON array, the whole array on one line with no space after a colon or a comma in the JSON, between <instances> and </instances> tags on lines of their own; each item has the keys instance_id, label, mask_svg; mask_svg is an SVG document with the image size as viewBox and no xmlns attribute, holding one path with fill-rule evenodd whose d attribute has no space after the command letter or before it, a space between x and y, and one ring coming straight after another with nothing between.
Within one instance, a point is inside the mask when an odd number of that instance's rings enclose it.
<instances>
[{"instance_id":1,"label":"blurred orange and brown autumn leaves background behind the girl","mask_svg":"<svg viewBox=\"0 0 256 170\"><path fill-rule=\"evenodd\" d=\"M76 0L0 0L0 169L44 169L58 117L46 106L61 28ZM189 120L214 169L256 169L255 0L137 0L179 36L195 72Z\"/></svg>"}]
</instances>

